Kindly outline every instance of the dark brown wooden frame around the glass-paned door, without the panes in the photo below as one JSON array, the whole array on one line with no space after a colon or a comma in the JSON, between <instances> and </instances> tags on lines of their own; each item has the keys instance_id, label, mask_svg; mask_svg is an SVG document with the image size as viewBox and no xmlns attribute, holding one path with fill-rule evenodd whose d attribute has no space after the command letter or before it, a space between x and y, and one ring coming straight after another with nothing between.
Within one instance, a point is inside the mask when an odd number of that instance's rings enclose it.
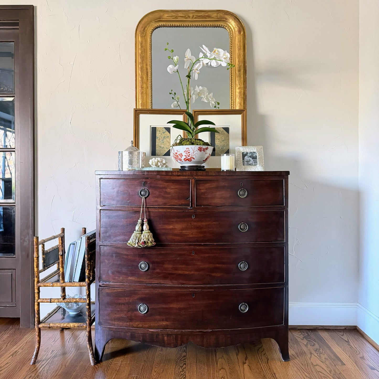
<instances>
[{"instance_id":1,"label":"dark brown wooden frame around the glass-paned door, without the panes","mask_svg":"<svg viewBox=\"0 0 379 379\"><path fill-rule=\"evenodd\" d=\"M34 6L0 5L3 28L19 28L18 157L16 157L16 302L20 326L34 326ZM17 122L17 121L16 121ZM18 168L18 172L17 172ZM17 192L16 192L17 195ZM17 217L18 215L18 217Z\"/></svg>"}]
</instances>

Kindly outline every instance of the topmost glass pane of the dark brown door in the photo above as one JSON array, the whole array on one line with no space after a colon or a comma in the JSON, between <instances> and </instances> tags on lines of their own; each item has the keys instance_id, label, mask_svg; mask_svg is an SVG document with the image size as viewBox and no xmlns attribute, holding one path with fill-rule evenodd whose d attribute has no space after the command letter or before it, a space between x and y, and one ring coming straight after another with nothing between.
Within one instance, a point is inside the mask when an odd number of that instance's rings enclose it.
<instances>
[{"instance_id":1,"label":"topmost glass pane of the dark brown door","mask_svg":"<svg viewBox=\"0 0 379 379\"><path fill-rule=\"evenodd\" d=\"M14 93L14 42L0 42L0 93Z\"/></svg>"}]
</instances>

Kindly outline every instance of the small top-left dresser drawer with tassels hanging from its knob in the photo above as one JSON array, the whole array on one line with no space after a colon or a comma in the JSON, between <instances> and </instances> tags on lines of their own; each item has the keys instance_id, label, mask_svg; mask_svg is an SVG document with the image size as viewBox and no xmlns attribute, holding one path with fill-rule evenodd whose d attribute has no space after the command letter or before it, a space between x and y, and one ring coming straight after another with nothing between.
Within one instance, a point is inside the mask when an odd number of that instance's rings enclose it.
<instances>
[{"instance_id":1,"label":"small top-left dresser drawer with tassels hanging from its knob","mask_svg":"<svg viewBox=\"0 0 379 379\"><path fill-rule=\"evenodd\" d=\"M146 188L150 207L190 207L190 179L100 179L100 205L141 207L139 191Z\"/></svg>"}]
</instances>

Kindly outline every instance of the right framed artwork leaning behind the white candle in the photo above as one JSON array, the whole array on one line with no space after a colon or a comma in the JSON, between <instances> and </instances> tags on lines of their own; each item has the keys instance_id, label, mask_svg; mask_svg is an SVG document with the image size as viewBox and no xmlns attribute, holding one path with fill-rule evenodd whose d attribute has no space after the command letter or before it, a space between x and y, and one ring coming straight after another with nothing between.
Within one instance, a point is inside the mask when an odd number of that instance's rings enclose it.
<instances>
[{"instance_id":1,"label":"right framed artwork leaning behind the white candle","mask_svg":"<svg viewBox=\"0 0 379 379\"><path fill-rule=\"evenodd\" d=\"M215 128L219 132L203 132L198 135L198 138L209 142L215 147L211 157L204 164L205 168L221 169L221 154L234 154L236 146L246 145L247 132L245 109L194 110L193 115L195 122L201 120L214 122L216 126L201 126Z\"/></svg>"}]
</instances>

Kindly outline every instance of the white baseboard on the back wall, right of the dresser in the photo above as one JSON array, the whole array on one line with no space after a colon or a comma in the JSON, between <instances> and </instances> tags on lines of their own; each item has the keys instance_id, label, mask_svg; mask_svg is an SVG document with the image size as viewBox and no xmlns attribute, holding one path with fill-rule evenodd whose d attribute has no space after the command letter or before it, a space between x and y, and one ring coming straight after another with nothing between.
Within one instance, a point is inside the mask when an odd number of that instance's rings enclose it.
<instances>
[{"instance_id":1,"label":"white baseboard on the back wall, right of the dresser","mask_svg":"<svg viewBox=\"0 0 379 379\"><path fill-rule=\"evenodd\" d=\"M291 302L288 324L355 326L357 303Z\"/></svg>"}]
</instances>

